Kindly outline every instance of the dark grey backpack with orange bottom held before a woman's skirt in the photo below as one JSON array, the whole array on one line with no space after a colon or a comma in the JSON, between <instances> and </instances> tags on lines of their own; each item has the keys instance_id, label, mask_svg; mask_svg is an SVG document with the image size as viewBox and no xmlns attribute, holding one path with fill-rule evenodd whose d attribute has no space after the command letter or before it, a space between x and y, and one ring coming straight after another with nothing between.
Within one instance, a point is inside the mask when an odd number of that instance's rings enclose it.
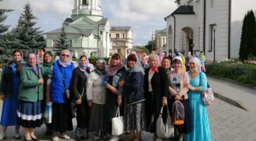
<instances>
[{"instance_id":1,"label":"dark grey backpack with orange bottom held before a woman's skirt","mask_svg":"<svg viewBox=\"0 0 256 141\"><path fill-rule=\"evenodd\" d=\"M182 125L184 124L185 112L184 105L181 101L176 100L173 103L172 107L172 123L173 125Z\"/></svg>"}]
</instances>

